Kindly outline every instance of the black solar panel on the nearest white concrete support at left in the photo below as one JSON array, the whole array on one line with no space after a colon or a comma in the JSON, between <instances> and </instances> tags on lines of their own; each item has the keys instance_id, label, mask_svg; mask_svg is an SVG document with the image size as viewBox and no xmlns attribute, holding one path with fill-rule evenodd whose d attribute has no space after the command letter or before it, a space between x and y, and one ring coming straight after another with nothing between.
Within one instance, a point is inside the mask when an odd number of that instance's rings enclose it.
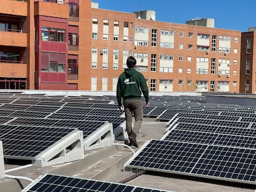
<instances>
[{"instance_id":1,"label":"black solar panel on the nearest white concrete support at left","mask_svg":"<svg viewBox=\"0 0 256 192\"><path fill-rule=\"evenodd\" d=\"M72 128L0 125L4 157L35 159L40 152L72 131L74 131Z\"/></svg>"}]
</instances>

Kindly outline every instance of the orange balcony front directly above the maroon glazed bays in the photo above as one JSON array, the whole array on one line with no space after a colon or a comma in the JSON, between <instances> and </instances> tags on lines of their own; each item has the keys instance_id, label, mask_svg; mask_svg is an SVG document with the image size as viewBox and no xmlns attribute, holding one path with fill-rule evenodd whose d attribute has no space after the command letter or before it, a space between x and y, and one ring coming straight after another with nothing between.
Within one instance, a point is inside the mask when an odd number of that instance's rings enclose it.
<instances>
[{"instance_id":1,"label":"orange balcony front directly above the maroon glazed bays","mask_svg":"<svg viewBox=\"0 0 256 192\"><path fill-rule=\"evenodd\" d=\"M69 4L61 0L37 0L35 1L35 15L69 19Z\"/></svg>"}]
</instances>

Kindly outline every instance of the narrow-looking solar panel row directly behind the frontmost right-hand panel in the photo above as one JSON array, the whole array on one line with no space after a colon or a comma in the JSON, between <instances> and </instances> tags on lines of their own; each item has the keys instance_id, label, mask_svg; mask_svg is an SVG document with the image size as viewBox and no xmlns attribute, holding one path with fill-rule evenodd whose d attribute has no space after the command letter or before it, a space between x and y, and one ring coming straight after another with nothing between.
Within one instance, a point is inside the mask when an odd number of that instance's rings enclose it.
<instances>
[{"instance_id":1,"label":"narrow-looking solar panel row directly behind the frontmost right-hand panel","mask_svg":"<svg viewBox=\"0 0 256 192\"><path fill-rule=\"evenodd\" d=\"M254 136L223 135L218 133L204 133L200 131L172 130L168 134L166 133L164 140L256 149L256 137Z\"/></svg>"}]
</instances>

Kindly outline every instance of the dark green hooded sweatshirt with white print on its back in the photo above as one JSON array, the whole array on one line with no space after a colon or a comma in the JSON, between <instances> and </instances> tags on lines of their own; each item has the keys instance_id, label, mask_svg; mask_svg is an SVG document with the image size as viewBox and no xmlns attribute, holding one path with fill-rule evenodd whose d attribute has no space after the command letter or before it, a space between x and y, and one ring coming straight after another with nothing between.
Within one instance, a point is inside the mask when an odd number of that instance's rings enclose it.
<instances>
[{"instance_id":1,"label":"dark green hooded sweatshirt with white print on its back","mask_svg":"<svg viewBox=\"0 0 256 192\"><path fill-rule=\"evenodd\" d=\"M149 102L145 77L134 68L124 69L117 82L116 97L118 104L122 104L122 98L124 100L141 99L142 93L146 102Z\"/></svg>"}]
</instances>

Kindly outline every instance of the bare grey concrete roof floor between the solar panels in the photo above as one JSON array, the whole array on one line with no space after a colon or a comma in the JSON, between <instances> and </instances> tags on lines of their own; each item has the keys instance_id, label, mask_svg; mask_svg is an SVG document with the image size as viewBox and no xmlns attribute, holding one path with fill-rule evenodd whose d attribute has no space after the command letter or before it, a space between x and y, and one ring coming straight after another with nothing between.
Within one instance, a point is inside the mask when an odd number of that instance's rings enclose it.
<instances>
[{"instance_id":1,"label":"bare grey concrete roof floor between the solar panels","mask_svg":"<svg viewBox=\"0 0 256 192\"><path fill-rule=\"evenodd\" d=\"M138 136L139 146L142 146L148 140L160 139L164 135L167 122L156 122L153 118L144 118L142 128ZM102 180L105 182L118 182L123 178L129 177L130 172L123 170L123 165L132 157L132 151L124 148L124 141L115 141L117 145L109 146L92 151L85 151L84 159L80 161L69 162L61 165L49 167L28 167L22 170L8 173L9 175L19 175L23 177L38 178L45 173L54 173L57 175L66 175L70 177L90 178L93 180ZM133 148L134 151L138 149ZM20 165L6 164L5 170L19 167ZM0 191L15 192L22 190L30 182L27 180L15 180L10 178L0 179ZM143 186L147 188L156 188L176 192L250 192L255 191L247 186L227 185L224 182L215 182L213 180L194 179L184 176L143 173L136 177L127 185ZM229 183L230 184L230 183Z\"/></svg>"}]
</instances>

